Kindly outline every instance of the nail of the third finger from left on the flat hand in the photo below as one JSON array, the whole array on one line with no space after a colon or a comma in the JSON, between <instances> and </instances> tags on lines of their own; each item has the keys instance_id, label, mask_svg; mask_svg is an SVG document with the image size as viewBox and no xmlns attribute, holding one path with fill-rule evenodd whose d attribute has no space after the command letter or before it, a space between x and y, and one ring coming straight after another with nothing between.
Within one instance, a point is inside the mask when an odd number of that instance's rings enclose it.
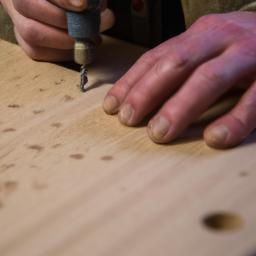
<instances>
[{"instance_id":1,"label":"nail of the third finger from left on the flat hand","mask_svg":"<svg viewBox=\"0 0 256 256\"><path fill-rule=\"evenodd\" d=\"M170 127L170 122L164 116L159 116L150 121L148 128L151 136L159 140L169 132Z\"/></svg>"}]
</instances>

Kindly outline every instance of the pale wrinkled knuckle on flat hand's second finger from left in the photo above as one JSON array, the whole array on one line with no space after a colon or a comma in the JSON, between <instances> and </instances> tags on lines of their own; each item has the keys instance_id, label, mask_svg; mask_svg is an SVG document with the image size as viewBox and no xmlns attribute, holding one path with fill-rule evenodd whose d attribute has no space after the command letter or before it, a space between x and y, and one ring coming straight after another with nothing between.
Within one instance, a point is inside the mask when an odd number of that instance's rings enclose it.
<instances>
[{"instance_id":1,"label":"pale wrinkled knuckle on flat hand's second finger from left","mask_svg":"<svg viewBox=\"0 0 256 256\"><path fill-rule=\"evenodd\" d=\"M185 54L175 48L159 60L156 73L158 76L162 76L171 69L184 68L187 63L188 59L185 57Z\"/></svg>"}]
</instances>

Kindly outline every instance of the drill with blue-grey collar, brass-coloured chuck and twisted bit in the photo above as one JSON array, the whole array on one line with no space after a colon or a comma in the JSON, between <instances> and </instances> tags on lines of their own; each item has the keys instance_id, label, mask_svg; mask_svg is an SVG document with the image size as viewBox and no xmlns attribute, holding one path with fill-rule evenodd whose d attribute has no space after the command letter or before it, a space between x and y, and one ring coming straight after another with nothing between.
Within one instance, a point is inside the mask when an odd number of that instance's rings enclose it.
<instances>
[{"instance_id":1,"label":"drill with blue-grey collar, brass-coloured chuck and twisted bit","mask_svg":"<svg viewBox=\"0 0 256 256\"><path fill-rule=\"evenodd\" d=\"M88 82L86 65L93 62L96 47L92 37L100 30L100 0L87 0L87 8L82 12L66 11L69 35L74 37L74 61L81 66L81 82L78 87L85 92Z\"/></svg>"}]
</instances>

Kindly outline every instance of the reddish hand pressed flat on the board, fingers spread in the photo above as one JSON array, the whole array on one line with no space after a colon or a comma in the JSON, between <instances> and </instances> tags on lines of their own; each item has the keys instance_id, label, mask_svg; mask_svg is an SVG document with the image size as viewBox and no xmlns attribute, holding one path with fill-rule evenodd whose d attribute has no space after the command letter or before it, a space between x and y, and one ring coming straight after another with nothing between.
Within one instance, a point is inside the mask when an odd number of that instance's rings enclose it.
<instances>
[{"instance_id":1,"label":"reddish hand pressed flat on the board, fingers spread","mask_svg":"<svg viewBox=\"0 0 256 256\"><path fill-rule=\"evenodd\" d=\"M246 86L239 103L204 132L209 146L232 147L256 127L255 74L256 14L212 14L144 54L108 92L103 108L134 126L164 103L148 135L167 143L233 86Z\"/></svg>"}]
</instances>

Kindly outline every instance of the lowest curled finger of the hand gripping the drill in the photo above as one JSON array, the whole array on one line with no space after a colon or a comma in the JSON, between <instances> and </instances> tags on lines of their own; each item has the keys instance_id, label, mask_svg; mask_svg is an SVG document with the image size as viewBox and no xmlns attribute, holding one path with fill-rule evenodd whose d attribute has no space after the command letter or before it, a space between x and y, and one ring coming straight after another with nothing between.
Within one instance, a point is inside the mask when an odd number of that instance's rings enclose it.
<instances>
[{"instance_id":1,"label":"lowest curled finger of the hand gripping the drill","mask_svg":"<svg viewBox=\"0 0 256 256\"><path fill-rule=\"evenodd\" d=\"M67 60L73 59L73 50L59 50L59 49L29 45L20 36L17 29L14 29L14 32L19 45L31 59L42 60L42 61L53 61L53 62L67 61Z\"/></svg>"}]
</instances>

